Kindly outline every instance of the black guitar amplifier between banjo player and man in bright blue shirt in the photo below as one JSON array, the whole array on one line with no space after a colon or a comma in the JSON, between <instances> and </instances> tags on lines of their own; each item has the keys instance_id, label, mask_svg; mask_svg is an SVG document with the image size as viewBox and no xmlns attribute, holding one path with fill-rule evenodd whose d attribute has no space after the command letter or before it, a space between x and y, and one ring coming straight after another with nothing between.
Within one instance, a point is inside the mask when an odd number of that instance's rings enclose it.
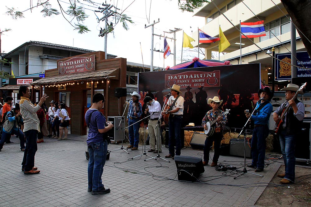
<instances>
[{"instance_id":1,"label":"black guitar amplifier between banjo player and man in bright blue shirt","mask_svg":"<svg viewBox=\"0 0 311 207\"><path fill-rule=\"evenodd\" d=\"M245 143L245 157L252 158L251 139ZM230 155L244 157L244 139L230 139Z\"/></svg>"}]
</instances>

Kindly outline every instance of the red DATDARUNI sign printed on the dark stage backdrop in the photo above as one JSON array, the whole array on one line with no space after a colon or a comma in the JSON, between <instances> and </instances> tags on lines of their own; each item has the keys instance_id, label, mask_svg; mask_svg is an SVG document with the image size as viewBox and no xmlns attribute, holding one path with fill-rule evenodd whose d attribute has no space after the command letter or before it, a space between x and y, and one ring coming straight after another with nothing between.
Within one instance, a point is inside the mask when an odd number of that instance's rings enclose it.
<instances>
[{"instance_id":1,"label":"red DATDARUNI sign printed on the dark stage backdrop","mask_svg":"<svg viewBox=\"0 0 311 207\"><path fill-rule=\"evenodd\" d=\"M165 88L177 84L180 88L190 87L216 87L220 86L220 70L212 72L187 71L178 74L165 74Z\"/></svg>"}]
</instances>

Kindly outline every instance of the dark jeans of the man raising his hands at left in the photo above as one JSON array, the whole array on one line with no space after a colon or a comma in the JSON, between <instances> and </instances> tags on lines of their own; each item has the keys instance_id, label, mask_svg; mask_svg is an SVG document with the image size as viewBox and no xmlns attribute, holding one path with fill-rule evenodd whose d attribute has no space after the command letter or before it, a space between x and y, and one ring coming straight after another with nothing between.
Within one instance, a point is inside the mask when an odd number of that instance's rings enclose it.
<instances>
[{"instance_id":1,"label":"dark jeans of the man raising his hands at left","mask_svg":"<svg viewBox=\"0 0 311 207\"><path fill-rule=\"evenodd\" d=\"M25 132L26 147L23 162L21 163L24 172L30 171L33 167L35 167L35 154L38 150L37 134L38 130L35 129L30 129Z\"/></svg>"}]
</instances>

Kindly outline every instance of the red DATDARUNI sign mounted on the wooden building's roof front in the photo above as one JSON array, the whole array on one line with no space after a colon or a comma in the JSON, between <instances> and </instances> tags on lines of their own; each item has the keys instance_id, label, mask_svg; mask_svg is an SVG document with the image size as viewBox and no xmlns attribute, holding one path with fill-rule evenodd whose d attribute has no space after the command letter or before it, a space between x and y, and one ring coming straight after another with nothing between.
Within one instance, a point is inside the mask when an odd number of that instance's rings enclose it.
<instances>
[{"instance_id":1,"label":"red DATDARUNI sign mounted on the wooden building's roof front","mask_svg":"<svg viewBox=\"0 0 311 207\"><path fill-rule=\"evenodd\" d=\"M58 61L58 74L74 74L95 70L95 55L89 57L73 57L67 61Z\"/></svg>"}]
</instances>

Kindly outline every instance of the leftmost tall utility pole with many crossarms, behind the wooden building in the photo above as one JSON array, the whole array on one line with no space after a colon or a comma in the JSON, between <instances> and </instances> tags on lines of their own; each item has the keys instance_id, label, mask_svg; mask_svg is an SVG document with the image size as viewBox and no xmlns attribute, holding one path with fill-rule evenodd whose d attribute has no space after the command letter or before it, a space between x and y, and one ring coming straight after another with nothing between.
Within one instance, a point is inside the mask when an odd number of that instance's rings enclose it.
<instances>
[{"instance_id":1,"label":"leftmost tall utility pole with many crossarms, behind the wooden building","mask_svg":"<svg viewBox=\"0 0 311 207\"><path fill-rule=\"evenodd\" d=\"M96 11L96 12L104 12L104 16L101 17L99 19L99 21L105 21L105 29L101 29L100 28L100 34L98 35L99 37L103 37L104 36L104 52L105 52L105 59L107 59L107 34L109 32L111 32L112 30L114 30L112 22L110 23L110 25L108 24L108 17L112 16L114 14L114 11L110 10L113 5L111 4L102 4L102 7L98 7L98 9L101 9L100 11Z\"/></svg>"}]
</instances>

